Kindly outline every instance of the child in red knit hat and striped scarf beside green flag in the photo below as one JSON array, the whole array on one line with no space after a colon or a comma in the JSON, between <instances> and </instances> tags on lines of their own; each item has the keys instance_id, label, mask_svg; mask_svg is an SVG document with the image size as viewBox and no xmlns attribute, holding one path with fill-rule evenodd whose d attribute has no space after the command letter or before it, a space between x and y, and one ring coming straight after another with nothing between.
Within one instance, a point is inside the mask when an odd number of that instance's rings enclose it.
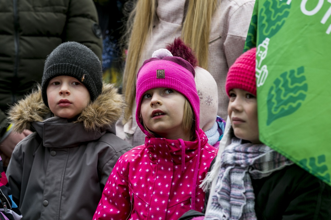
<instances>
[{"instance_id":1,"label":"child in red knit hat and striped scarf beside green flag","mask_svg":"<svg viewBox=\"0 0 331 220\"><path fill-rule=\"evenodd\" d=\"M259 140L255 57L252 48L229 69L225 149L202 183L212 184L205 217L193 219L331 219L331 187Z\"/></svg>"}]
</instances>

